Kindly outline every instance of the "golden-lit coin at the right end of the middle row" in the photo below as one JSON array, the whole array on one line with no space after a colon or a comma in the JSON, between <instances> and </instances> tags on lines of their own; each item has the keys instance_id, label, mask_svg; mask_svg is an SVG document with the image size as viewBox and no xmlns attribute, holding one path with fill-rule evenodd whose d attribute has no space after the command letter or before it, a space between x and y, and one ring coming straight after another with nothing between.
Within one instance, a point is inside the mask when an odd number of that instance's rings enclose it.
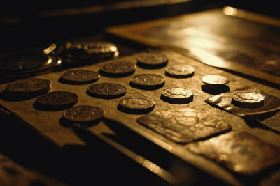
<instances>
[{"instance_id":1,"label":"golden-lit coin at the right end of the middle row","mask_svg":"<svg viewBox=\"0 0 280 186\"><path fill-rule=\"evenodd\" d=\"M190 77L195 73L195 68L191 65L172 65L165 72L170 77Z\"/></svg>"}]
</instances>

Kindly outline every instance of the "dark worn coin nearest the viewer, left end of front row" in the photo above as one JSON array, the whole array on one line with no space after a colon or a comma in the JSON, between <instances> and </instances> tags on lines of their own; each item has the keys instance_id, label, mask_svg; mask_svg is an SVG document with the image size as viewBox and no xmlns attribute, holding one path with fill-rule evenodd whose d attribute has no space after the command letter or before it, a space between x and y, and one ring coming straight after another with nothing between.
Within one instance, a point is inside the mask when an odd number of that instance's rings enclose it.
<instances>
[{"instance_id":1,"label":"dark worn coin nearest the viewer, left end of front row","mask_svg":"<svg viewBox=\"0 0 280 186\"><path fill-rule=\"evenodd\" d=\"M99 107L77 106L65 111L63 116L69 121L88 123L101 119L104 116L104 111Z\"/></svg>"}]
</instances>

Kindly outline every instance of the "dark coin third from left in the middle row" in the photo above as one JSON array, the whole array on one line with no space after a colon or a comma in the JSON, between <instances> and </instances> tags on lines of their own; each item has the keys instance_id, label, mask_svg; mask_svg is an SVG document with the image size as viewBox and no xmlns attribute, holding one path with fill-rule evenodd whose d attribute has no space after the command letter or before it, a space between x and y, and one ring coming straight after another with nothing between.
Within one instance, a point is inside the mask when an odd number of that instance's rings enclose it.
<instances>
[{"instance_id":1,"label":"dark coin third from left in the middle row","mask_svg":"<svg viewBox=\"0 0 280 186\"><path fill-rule=\"evenodd\" d=\"M130 79L131 85L141 89L155 89L165 85L165 78L160 75L142 74Z\"/></svg>"}]
</instances>

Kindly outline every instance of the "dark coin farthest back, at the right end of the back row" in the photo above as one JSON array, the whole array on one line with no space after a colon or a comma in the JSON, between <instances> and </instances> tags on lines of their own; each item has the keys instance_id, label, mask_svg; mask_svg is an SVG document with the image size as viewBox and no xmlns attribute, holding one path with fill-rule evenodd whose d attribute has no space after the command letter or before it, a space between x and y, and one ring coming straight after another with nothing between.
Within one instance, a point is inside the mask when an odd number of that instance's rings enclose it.
<instances>
[{"instance_id":1,"label":"dark coin farthest back, at the right end of the back row","mask_svg":"<svg viewBox=\"0 0 280 186\"><path fill-rule=\"evenodd\" d=\"M144 68L160 68L167 65L168 58L160 52L151 52L141 54L138 59L138 65Z\"/></svg>"}]
</instances>

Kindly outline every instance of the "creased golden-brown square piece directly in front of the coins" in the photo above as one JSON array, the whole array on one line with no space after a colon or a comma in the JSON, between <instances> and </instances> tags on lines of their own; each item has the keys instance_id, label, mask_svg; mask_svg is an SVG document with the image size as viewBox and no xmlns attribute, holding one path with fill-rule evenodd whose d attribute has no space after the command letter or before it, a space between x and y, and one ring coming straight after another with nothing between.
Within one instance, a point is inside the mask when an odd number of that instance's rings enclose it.
<instances>
[{"instance_id":1,"label":"creased golden-brown square piece directly in front of the coins","mask_svg":"<svg viewBox=\"0 0 280 186\"><path fill-rule=\"evenodd\" d=\"M225 121L190 108L155 111L141 116L137 121L181 144L221 134L231 129Z\"/></svg>"}]
</instances>

